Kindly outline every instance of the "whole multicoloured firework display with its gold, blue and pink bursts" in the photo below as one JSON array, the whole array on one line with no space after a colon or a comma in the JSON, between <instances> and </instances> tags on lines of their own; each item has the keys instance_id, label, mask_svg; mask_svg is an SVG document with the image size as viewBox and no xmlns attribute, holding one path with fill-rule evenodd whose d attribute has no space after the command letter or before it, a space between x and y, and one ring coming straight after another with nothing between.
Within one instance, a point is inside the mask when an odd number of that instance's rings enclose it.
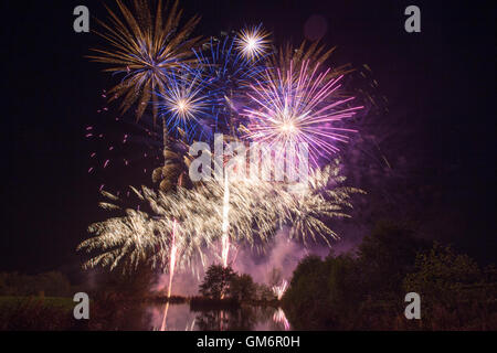
<instances>
[{"instance_id":1,"label":"whole multicoloured firework display with its gold, blue and pink bursts","mask_svg":"<svg viewBox=\"0 0 497 353\"><path fill-rule=\"evenodd\" d=\"M145 157L154 156L155 165L144 168L144 173L150 174L155 186L112 194L104 190L107 181L102 182L101 191L109 199L102 207L119 215L89 226L93 236L77 248L91 256L84 266L133 271L145 264L169 275L170 298L178 269L203 269L209 254L226 268L240 247L264 254L284 227L289 228L289 238L304 245L313 240L331 246L339 235L330 221L348 217L351 195L362 192L343 184L336 156L339 145L356 132L345 127L346 121L362 107L343 93L347 71L327 65L334 49L317 42L277 47L262 24L201 41L191 38L199 17L180 25L178 1L168 8L159 0L154 11L147 1L135 1L134 11L121 1L117 6L123 19L108 9L109 22L101 22L105 31L99 35L108 47L94 50L89 57L121 75L105 93L110 101L121 98L121 114L135 107L138 125L151 117L144 129L148 136L141 138L154 140L154 152ZM161 131L156 129L157 119ZM86 133L96 138L93 126ZM300 168L308 163L305 182L290 180L287 170L276 181L233 172L236 158L224 152L213 161L221 178L192 180L191 147L197 142L212 147L220 133L223 148L231 143L251 146L248 151L257 146L279 148L286 151L275 154L282 163L293 158ZM124 136L123 145L138 136L130 135ZM296 152L302 146L308 147L308 156ZM114 146L110 151L119 153ZM163 161L157 165L160 152ZM128 167L130 157L124 154L97 158L103 169L114 160ZM237 159L237 169L253 162ZM129 205L130 195L138 205ZM273 288L278 300L287 286L284 280ZM162 329L167 311L168 307ZM283 312L274 320L288 329Z\"/></svg>"}]
</instances>

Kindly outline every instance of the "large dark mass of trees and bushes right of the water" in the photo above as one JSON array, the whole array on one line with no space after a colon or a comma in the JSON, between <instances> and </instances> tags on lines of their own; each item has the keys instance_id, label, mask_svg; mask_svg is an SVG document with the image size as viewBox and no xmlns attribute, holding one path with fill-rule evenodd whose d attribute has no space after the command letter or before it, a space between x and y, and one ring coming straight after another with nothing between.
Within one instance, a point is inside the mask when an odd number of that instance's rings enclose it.
<instances>
[{"instance_id":1,"label":"large dark mass of trees and bushes right of the water","mask_svg":"<svg viewBox=\"0 0 497 353\"><path fill-rule=\"evenodd\" d=\"M283 298L296 330L496 330L496 270L382 223L347 254L304 258ZM421 320L404 317L408 292Z\"/></svg>"}]
</instances>

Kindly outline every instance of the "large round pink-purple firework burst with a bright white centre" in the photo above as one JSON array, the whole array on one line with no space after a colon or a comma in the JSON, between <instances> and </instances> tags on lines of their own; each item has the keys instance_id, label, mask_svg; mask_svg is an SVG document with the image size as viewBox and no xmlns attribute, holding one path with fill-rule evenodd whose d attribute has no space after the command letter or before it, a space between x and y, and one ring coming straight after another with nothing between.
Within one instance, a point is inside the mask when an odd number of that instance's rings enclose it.
<instances>
[{"instance_id":1,"label":"large round pink-purple firework burst with a bright white centre","mask_svg":"<svg viewBox=\"0 0 497 353\"><path fill-rule=\"evenodd\" d=\"M242 116L248 120L247 137L261 143L288 147L306 142L310 159L339 151L337 142L347 142L348 132L357 132L337 126L337 121L350 118L361 109L353 106L355 97L343 98L343 75L330 77L330 68L306 61L298 72L290 62L287 72L267 69L262 79L251 86L251 103Z\"/></svg>"}]
</instances>

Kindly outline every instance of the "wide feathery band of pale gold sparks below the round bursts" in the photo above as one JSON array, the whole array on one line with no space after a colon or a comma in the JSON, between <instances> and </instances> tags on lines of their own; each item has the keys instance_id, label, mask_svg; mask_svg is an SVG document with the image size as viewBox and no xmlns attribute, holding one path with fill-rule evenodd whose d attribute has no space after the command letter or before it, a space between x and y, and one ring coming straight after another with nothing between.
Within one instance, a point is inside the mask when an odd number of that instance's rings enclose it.
<instances>
[{"instance_id":1,"label":"wide feathery band of pale gold sparks below the round bursts","mask_svg":"<svg viewBox=\"0 0 497 353\"><path fill-rule=\"evenodd\" d=\"M231 180L230 242L264 252L276 231L288 225L293 238L306 243L320 237L331 246L330 240L339 236L326 220L349 217L346 210L352 207L351 195L364 193L342 186L345 180L338 161L313 171L308 185L303 188L258 179ZM133 270L145 263L166 271L172 232L176 232L178 267L191 268L198 258L203 258L204 250L215 248L223 224L222 182L211 180L191 190L180 188L168 193L145 186L134 191L149 204L151 214L121 208L124 216L93 224L89 232L95 236L83 242L78 250L99 254L85 263L86 268L101 265L113 269L123 264L124 269ZM116 196L104 195L113 202L102 203L104 208L120 208L115 204L119 201ZM178 222L176 229L172 220Z\"/></svg>"}]
</instances>

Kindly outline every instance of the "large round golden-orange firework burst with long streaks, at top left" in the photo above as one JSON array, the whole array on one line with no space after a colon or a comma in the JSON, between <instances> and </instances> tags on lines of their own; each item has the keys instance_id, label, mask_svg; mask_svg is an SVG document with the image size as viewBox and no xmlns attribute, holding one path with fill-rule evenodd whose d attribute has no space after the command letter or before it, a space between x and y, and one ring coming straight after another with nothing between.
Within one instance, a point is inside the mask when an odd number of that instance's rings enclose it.
<instances>
[{"instance_id":1,"label":"large round golden-orange firework burst with long streaks, at top left","mask_svg":"<svg viewBox=\"0 0 497 353\"><path fill-rule=\"evenodd\" d=\"M117 0L117 6L124 20L107 8L109 23L98 21L105 32L97 34L108 42L109 49L93 49L97 54L88 57L109 65L105 72L125 75L110 89L110 101L123 97L123 113L138 103L137 120L151 103L155 120L155 93L166 90L169 73L194 61L191 49L200 44L201 38L189 36L200 18L194 15L179 26L182 10L178 9L178 0L170 8L162 7L162 1L158 0L155 13L148 0L135 0L135 13L120 0Z\"/></svg>"}]
</instances>

